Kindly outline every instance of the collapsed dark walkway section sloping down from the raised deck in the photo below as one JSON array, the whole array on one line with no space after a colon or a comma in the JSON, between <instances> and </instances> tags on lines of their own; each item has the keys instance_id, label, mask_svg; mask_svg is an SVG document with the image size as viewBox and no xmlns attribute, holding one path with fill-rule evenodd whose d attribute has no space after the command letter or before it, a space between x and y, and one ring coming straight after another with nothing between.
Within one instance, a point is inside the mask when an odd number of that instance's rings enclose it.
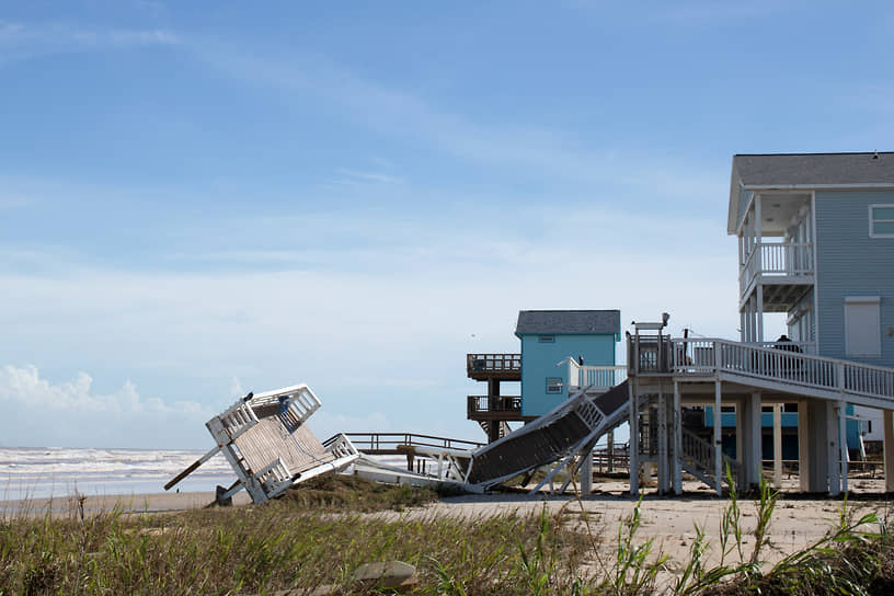
<instances>
[{"instance_id":1,"label":"collapsed dark walkway section sloping down from the raised deck","mask_svg":"<svg viewBox=\"0 0 894 596\"><path fill-rule=\"evenodd\" d=\"M627 420L629 390L627 381L596 398L588 389L578 388L551 412L472 451L466 482L486 489L558 462L536 492L575 456L589 452L605 433Z\"/></svg>"}]
</instances>

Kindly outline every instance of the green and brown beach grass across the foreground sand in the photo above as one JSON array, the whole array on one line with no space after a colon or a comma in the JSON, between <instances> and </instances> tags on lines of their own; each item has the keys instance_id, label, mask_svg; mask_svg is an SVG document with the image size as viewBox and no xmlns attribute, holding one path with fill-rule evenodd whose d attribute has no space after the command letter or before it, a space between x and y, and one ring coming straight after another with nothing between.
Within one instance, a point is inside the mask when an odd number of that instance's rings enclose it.
<instances>
[{"instance_id":1,"label":"green and brown beach grass across the foreground sand","mask_svg":"<svg viewBox=\"0 0 894 596\"><path fill-rule=\"evenodd\" d=\"M708 566L700 532L683 571L668 580L665 554L640 527L640 503L612 530L558 513L459 518L399 513L432 491L333 477L262 506L186 512L34 512L0 518L0 595L369 593L352 584L360 565L416 566L415 594L890 594L894 549L886 524L841 507L829 534L775 565L764 564L778 495L755 497L758 524L743 549L741 505L723 505L720 564ZM296 494L297 493L297 494ZM360 513L381 512L381 513ZM702 529L703 530L703 529Z\"/></svg>"}]
</instances>

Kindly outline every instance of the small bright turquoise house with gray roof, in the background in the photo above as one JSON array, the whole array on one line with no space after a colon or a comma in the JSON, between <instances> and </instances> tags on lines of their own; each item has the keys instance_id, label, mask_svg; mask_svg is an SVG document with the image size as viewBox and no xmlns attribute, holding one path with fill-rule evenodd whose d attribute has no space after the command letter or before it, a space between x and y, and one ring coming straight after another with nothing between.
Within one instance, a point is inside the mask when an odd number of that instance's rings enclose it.
<instances>
[{"instance_id":1,"label":"small bright turquoise house with gray roof, in the background","mask_svg":"<svg viewBox=\"0 0 894 596\"><path fill-rule=\"evenodd\" d=\"M540 416L568 399L569 368L557 366L561 360L614 366L620 328L619 310L520 311L522 414Z\"/></svg>"}]
</instances>

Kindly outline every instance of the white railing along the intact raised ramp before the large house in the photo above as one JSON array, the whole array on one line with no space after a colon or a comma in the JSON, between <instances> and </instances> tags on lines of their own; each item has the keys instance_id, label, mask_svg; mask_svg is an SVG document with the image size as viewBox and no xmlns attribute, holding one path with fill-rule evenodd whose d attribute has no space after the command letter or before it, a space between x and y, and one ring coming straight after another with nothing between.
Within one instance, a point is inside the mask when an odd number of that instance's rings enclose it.
<instances>
[{"instance_id":1,"label":"white railing along the intact raised ramp before the large house","mask_svg":"<svg viewBox=\"0 0 894 596\"><path fill-rule=\"evenodd\" d=\"M773 381L894 400L894 368L803 354L793 343L773 347L713 339L675 339L674 374L730 371Z\"/></svg>"}]
</instances>

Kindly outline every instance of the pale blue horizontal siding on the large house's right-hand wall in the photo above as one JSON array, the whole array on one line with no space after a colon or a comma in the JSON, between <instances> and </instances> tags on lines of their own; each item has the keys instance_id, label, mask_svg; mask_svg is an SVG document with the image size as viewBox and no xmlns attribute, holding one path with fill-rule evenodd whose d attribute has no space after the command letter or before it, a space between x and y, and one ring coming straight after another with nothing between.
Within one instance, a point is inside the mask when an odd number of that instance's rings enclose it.
<instances>
[{"instance_id":1,"label":"pale blue horizontal siding on the large house's right-hand wall","mask_svg":"<svg viewBox=\"0 0 894 596\"><path fill-rule=\"evenodd\" d=\"M881 298L881 357L850 358L894 367L894 238L869 237L869 206L894 204L894 191L816 192L816 290L820 354L847 358L845 298ZM894 332L893 332L894 333Z\"/></svg>"}]
</instances>

